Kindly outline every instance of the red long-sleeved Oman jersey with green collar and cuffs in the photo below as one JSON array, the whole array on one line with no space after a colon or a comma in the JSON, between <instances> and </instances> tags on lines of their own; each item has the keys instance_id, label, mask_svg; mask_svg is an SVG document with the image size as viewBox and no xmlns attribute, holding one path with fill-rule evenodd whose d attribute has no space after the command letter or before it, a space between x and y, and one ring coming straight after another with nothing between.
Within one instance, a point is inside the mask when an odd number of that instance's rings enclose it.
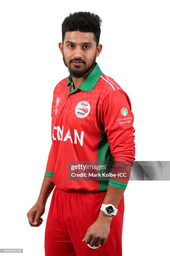
<instances>
[{"instance_id":1,"label":"red long-sleeved Oman jersey with green collar and cuffs","mask_svg":"<svg viewBox=\"0 0 170 256\"><path fill-rule=\"evenodd\" d=\"M126 189L127 181L68 180L67 161L134 161L134 116L126 92L98 64L74 89L71 75L55 87L52 145L44 176L61 190Z\"/></svg>"}]
</instances>

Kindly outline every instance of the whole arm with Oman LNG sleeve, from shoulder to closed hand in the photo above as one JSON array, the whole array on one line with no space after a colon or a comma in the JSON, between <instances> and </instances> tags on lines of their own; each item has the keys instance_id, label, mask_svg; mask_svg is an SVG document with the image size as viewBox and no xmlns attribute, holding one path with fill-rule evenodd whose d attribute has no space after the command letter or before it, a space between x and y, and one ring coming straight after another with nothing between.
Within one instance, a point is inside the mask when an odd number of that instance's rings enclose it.
<instances>
[{"instance_id":1,"label":"whole arm with Oman LNG sleeve, from shoulder to closed hand","mask_svg":"<svg viewBox=\"0 0 170 256\"><path fill-rule=\"evenodd\" d=\"M128 114L121 111L124 108ZM131 111L131 102L127 94L121 90L110 92L101 104L100 116L115 161L112 172L123 170L123 172L127 171L129 176L129 169L131 170L135 160L133 135L135 130L133 128L134 116ZM120 161L119 166L117 161ZM103 203L113 204L117 208L127 183L128 178L127 180L110 178ZM112 219L114 216L107 216L103 211L99 211L98 219L89 227L82 242L90 243L90 246L103 245L108 238Z\"/></svg>"}]
</instances>

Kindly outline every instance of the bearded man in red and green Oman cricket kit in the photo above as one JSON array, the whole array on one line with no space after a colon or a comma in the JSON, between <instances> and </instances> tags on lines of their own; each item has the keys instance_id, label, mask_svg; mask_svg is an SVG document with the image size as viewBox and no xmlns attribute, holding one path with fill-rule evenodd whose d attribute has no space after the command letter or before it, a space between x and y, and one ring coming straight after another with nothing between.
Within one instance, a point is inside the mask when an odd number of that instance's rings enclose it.
<instances>
[{"instance_id":1,"label":"bearded man in red and green Oman cricket kit","mask_svg":"<svg viewBox=\"0 0 170 256\"><path fill-rule=\"evenodd\" d=\"M53 92L52 145L38 200L27 213L31 226L41 225L55 187L46 256L122 255L127 181L70 180L67 172L68 161L135 160L129 97L96 63L102 49L100 25L101 18L90 12L70 13L62 23L59 48L70 75Z\"/></svg>"}]
</instances>

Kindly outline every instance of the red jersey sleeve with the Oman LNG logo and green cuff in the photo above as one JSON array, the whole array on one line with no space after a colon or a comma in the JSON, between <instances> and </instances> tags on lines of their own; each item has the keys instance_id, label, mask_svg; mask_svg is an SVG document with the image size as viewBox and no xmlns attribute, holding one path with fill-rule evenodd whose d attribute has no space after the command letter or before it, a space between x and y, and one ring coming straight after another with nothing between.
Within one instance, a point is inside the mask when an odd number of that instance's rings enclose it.
<instances>
[{"instance_id":1,"label":"red jersey sleeve with the Oman LNG logo and green cuff","mask_svg":"<svg viewBox=\"0 0 170 256\"><path fill-rule=\"evenodd\" d=\"M108 184L126 189L135 160L134 116L127 93L122 89L108 93L101 104L100 116L115 161L112 172L127 172L127 180L110 177Z\"/></svg>"}]
</instances>

